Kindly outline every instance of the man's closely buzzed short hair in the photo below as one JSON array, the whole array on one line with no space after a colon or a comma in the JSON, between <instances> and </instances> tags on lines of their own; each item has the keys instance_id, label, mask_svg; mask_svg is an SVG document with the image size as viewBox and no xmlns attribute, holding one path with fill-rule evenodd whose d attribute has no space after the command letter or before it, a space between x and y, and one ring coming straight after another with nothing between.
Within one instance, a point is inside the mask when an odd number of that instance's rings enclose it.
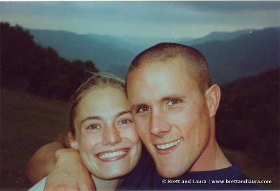
<instances>
[{"instance_id":1,"label":"man's closely buzzed short hair","mask_svg":"<svg viewBox=\"0 0 280 191\"><path fill-rule=\"evenodd\" d=\"M187 74L197 81L201 93L212 85L205 57L195 48L176 43L160 43L144 50L131 62L128 75L143 65L165 62L172 58L182 58L186 64Z\"/></svg>"}]
</instances>

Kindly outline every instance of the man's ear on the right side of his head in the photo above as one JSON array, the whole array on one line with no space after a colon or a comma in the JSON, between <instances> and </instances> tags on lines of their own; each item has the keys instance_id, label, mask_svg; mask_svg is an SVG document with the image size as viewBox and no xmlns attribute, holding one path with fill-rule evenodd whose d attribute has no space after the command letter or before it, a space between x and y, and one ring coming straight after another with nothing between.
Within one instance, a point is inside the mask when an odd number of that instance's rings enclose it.
<instances>
[{"instance_id":1,"label":"man's ear on the right side of his head","mask_svg":"<svg viewBox=\"0 0 280 191\"><path fill-rule=\"evenodd\" d=\"M206 100L207 100L210 118L215 117L219 107L220 98L221 98L221 90L218 85L214 84L206 90Z\"/></svg>"}]
</instances>

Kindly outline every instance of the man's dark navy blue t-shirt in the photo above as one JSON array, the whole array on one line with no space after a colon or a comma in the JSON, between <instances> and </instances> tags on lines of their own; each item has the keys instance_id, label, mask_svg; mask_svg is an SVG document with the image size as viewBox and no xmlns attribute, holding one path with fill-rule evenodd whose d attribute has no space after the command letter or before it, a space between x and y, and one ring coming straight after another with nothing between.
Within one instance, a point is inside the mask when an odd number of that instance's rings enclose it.
<instances>
[{"instance_id":1,"label":"man's dark navy blue t-shirt","mask_svg":"<svg viewBox=\"0 0 280 191\"><path fill-rule=\"evenodd\" d=\"M118 190L263 190L263 188L249 183L247 176L236 164L219 170L186 172L173 179L163 178L157 172L150 154L144 149L138 166L124 179Z\"/></svg>"}]
</instances>

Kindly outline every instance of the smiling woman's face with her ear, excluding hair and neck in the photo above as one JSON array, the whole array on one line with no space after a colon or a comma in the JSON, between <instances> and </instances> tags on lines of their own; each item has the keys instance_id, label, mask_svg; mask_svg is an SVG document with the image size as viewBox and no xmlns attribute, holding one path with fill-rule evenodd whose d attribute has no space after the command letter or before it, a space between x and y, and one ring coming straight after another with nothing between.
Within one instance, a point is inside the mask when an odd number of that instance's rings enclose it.
<instances>
[{"instance_id":1,"label":"smiling woman's face with her ear, excluding hair and neck","mask_svg":"<svg viewBox=\"0 0 280 191\"><path fill-rule=\"evenodd\" d=\"M132 121L123 91L107 87L86 93L77 107L76 136L70 144L91 174L109 180L137 165L142 143Z\"/></svg>"}]
</instances>

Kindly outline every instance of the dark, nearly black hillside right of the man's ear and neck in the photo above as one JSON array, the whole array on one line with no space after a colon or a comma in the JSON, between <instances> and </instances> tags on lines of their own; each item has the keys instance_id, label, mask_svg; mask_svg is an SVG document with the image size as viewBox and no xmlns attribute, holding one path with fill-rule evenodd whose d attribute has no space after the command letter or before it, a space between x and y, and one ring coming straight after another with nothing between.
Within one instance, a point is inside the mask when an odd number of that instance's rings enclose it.
<instances>
[{"instance_id":1,"label":"dark, nearly black hillside right of the man's ear and neck","mask_svg":"<svg viewBox=\"0 0 280 191\"><path fill-rule=\"evenodd\" d=\"M279 167L280 69L221 87L216 115L218 143L244 152L262 164Z\"/></svg>"}]
</instances>

